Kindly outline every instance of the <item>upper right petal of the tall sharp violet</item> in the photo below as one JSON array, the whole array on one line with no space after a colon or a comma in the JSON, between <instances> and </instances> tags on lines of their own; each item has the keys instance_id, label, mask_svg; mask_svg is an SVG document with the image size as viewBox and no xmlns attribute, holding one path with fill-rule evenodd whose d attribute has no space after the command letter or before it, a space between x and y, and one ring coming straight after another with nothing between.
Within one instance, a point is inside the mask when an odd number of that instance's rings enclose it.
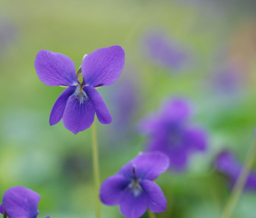
<instances>
[{"instance_id":1,"label":"upper right petal of the tall sharp violet","mask_svg":"<svg viewBox=\"0 0 256 218\"><path fill-rule=\"evenodd\" d=\"M119 77L125 63L125 52L120 46L100 48L87 55L82 73L87 86L109 86Z\"/></svg>"}]
</instances>

